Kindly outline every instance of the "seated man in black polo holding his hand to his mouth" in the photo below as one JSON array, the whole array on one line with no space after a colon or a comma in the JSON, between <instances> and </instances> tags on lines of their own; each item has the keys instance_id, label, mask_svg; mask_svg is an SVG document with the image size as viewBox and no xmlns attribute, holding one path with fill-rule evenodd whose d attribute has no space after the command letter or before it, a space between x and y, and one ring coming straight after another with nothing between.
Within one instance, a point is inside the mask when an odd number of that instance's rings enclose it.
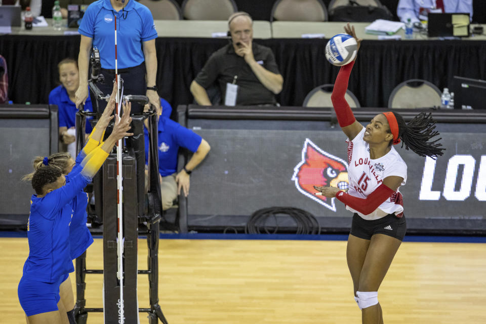
<instances>
[{"instance_id":1,"label":"seated man in black polo holding his hand to his mouth","mask_svg":"<svg viewBox=\"0 0 486 324\"><path fill-rule=\"evenodd\" d=\"M253 43L253 20L249 14L232 14L228 27L231 43L213 53L191 83L194 99L200 105L211 105L206 89L217 80L222 104L275 105L274 95L282 90L284 78L272 51ZM234 90L234 85L236 100L230 100L226 98L226 90L227 87Z\"/></svg>"}]
</instances>

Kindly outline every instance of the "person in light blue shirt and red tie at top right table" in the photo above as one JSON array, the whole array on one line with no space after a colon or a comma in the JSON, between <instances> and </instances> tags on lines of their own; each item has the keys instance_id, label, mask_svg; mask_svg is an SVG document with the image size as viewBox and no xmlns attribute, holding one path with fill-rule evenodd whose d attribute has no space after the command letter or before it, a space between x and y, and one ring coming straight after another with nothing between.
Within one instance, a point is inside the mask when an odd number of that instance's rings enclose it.
<instances>
[{"instance_id":1,"label":"person in light blue shirt and red tie at top right table","mask_svg":"<svg viewBox=\"0 0 486 324\"><path fill-rule=\"evenodd\" d=\"M412 23L427 21L429 12L469 13L472 19L472 0L400 0L396 8L398 18L404 23L409 18Z\"/></svg>"}]
</instances>

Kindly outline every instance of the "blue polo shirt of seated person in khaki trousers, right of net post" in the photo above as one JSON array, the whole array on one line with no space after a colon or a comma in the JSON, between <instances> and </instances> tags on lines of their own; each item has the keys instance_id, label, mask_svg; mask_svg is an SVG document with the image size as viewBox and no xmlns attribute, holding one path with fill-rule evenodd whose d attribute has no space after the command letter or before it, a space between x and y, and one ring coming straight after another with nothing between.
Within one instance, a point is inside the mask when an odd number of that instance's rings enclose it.
<instances>
[{"instance_id":1,"label":"blue polo shirt of seated person in khaki trousers, right of net post","mask_svg":"<svg viewBox=\"0 0 486 324\"><path fill-rule=\"evenodd\" d=\"M163 110L164 111L164 110ZM148 161L148 131L145 133L145 163ZM158 119L158 172L161 176L169 176L177 171L177 153L179 147L185 147L191 152L203 140L191 130L162 115Z\"/></svg>"}]
</instances>

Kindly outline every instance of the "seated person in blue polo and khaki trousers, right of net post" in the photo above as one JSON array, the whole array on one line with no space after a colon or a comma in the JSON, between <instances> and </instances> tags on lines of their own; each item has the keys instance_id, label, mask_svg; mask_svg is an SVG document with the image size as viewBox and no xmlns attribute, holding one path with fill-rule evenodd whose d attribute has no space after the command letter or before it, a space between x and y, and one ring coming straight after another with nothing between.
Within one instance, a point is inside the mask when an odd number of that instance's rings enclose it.
<instances>
[{"instance_id":1,"label":"seated person in blue polo and khaki trousers, right of net post","mask_svg":"<svg viewBox=\"0 0 486 324\"><path fill-rule=\"evenodd\" d=\"M199 135L185 127L182 127L168 115L172 107L167 101L161 101L162 115L158 119L158 172L160 180L160 192L162 209L167 210L174 205L174 200L181 193L189 194L189 175L201 161L204 160L211 147ZM145 110L148 105L145 106ZM145 119L145 163L148 162L148 121ZM184 168L177 173L177 154L179 147L185 147L194 154ZM148 185L148 178L145 185Z\"/></svg>"}]
</instances>

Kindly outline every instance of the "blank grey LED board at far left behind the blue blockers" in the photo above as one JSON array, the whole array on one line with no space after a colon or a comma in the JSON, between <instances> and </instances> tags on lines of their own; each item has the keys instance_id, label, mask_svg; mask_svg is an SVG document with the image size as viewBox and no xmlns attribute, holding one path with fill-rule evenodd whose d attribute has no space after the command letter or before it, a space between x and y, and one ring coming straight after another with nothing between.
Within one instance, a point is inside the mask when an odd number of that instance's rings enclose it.
<instances>
[{"instance_id":1,"label":"blank grey LED board at far left behind the blue blockers","mask_svg":"<svg viewBox=\"0 0 486 324\"><path fill-rule=\"evenodd\" d=\"M54 105L0 106L0 228L26 229L35 156L58 151L58 110Z\"/></svg>"}]
</instances>

